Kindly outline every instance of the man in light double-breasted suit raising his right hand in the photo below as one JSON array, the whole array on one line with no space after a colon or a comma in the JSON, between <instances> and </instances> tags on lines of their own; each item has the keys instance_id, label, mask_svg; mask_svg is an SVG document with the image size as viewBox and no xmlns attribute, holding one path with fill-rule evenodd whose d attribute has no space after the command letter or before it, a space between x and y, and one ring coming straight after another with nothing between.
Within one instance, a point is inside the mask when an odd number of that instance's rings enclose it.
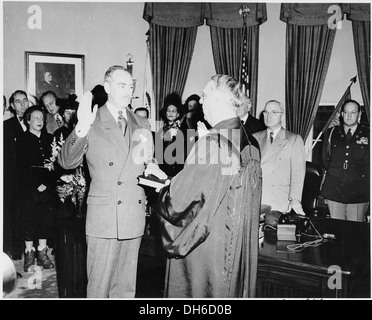
<instances>
[{"instance_id":1,"label":"man in light double-breasted suit raising his right hand","mask_svg":"<svg viewBox=\"0 0 372 320\"><path fill-rule=\"evenodd\" d=\"M58 162L73 169L85 155L91 177L85 227L87 297L134 298L146 215L146 197L137 177L144 171L160 179L167 176L154 162L148 120L128 108L131 74L122 66L110 67L104 88L108 100L99 109L95 105L92 110L91 92L82 96L78 123Z\"/></svg>"}]
</instances>

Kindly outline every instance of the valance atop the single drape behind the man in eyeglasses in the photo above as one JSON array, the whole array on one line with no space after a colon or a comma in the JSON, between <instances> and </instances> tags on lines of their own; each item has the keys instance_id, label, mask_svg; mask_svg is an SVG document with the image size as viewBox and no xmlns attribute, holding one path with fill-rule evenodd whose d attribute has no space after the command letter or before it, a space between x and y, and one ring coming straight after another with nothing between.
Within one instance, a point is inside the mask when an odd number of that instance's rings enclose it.
<instances>
[{"instance_id":1,"label":"valance atop the single drape behind the man in eyeglasses","mask_svg":"<svg viewBox=\"0 0 372 320\"><path fill-rule=\"evenodd\" d=\"M328 9L335 5L338 3L282 3L280 20L301 26L326 25L334 14L333 10L328 13Z\"/></svg>"}]
</instances>

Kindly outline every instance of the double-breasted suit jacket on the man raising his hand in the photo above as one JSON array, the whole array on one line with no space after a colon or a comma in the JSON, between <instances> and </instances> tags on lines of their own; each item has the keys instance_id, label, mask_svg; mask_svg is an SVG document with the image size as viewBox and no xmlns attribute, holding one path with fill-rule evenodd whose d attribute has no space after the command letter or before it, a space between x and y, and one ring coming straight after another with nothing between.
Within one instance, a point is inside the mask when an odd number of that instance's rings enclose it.
<instances>
[{"instance_id":1,"label":"double-breasted suit jacket on the man raising his hand","mask_svg":"<svg viewBox=\"0 0 372 320\"><path fill-rule=\"evenodd\" d=\"M126 113L123 136L107 106L99 108L88 134L79 137L74 130L58 160L72 169L86 155L91 177L86 235L91 237L131 239L144 233L146 198L137 177L153 159L153 140L148 120Z\"/></svg>"}]
</instances>

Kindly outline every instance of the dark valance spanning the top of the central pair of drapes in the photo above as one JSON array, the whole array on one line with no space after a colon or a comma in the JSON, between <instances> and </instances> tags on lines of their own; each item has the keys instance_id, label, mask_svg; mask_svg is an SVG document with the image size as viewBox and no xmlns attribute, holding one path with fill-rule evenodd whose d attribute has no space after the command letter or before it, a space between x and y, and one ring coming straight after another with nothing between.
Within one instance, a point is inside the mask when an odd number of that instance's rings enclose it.
<instances>
[{"instance_id":1,"label":"dark valance spanning the top of the central pair of drapes","mask_svg":"<svg viewBox=\"0 0 372 320\"><path fill-rule=\"evenodd\" d=\"M254 26L267 20L265 3L146 2L143 18L165 27L190 28L204 24L218 28L242 28L240 10L248 11L246 24Z\"/></svg>"}]
</instances>

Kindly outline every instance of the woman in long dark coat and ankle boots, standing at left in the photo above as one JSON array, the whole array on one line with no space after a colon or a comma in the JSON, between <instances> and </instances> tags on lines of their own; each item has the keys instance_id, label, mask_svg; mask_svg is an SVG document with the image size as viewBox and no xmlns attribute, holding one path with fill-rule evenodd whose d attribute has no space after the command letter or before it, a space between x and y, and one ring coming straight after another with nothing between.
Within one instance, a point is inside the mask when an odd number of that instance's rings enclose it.
<instances>
[{"instance_id":1,"label":"woman in long dark coat and ankle boots, standing at left","mask_svg":"<svg viewBox=\"0 0 372 320\"><path fill-rule=\"evenodd\" d=\"M55 176L44 164L51 157L53 136L43 131L45 113L32 106L24 114L27 130L17 140L23 232L25 238L24 271L35 262L45 269L53 268L47 251L47 239L55 234L56 193ZM37 251L33 241L38 240Z\"/></svg>"}]
</instances>

